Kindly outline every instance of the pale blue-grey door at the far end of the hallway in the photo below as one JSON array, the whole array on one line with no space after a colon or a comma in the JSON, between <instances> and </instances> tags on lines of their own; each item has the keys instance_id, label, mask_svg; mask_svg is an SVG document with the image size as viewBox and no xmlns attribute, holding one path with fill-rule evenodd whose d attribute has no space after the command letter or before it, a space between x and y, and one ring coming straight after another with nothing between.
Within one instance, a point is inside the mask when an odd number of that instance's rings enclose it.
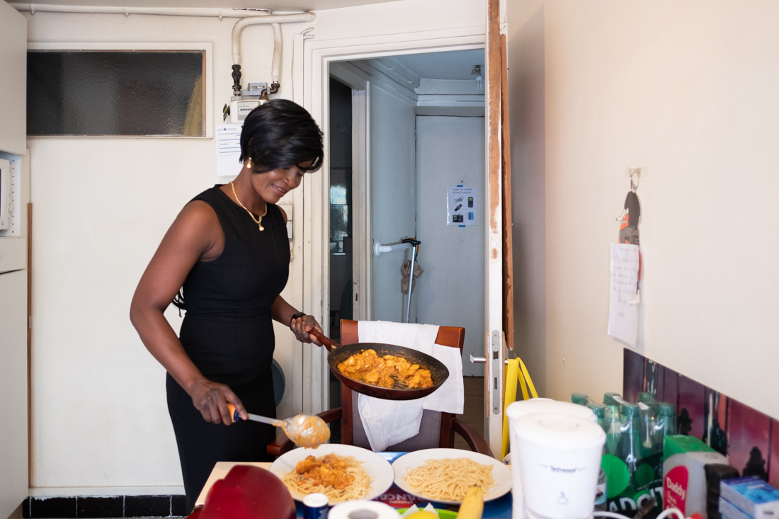
<instances>
[{"instance_id":1,"label":"pale blue-grey door at the far end of the hallway","mask_svg":"<svg viewBox=\"0 0 779 519\"><path fill-rule=\"evenodd\" d=\"M474 82L475 83L475 82ZM484 376L485 119L417 117L417 238L422 242L412 299L417 322L465 327L463 374ZM447 188L476 187L477 224L446 225Z\"/></svg>"}]
</instances>

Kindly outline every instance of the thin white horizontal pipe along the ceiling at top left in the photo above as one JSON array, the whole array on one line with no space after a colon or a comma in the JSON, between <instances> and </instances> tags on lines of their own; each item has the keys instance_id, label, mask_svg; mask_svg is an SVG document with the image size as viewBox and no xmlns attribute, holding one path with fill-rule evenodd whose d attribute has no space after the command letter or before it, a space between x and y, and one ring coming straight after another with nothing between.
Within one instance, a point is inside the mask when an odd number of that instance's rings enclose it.
<instances>
[{"instance_id":1,"label":"thin white horizontal pipe along the ceiling at top left","mask_svg":"<svg viewBox=\"0 0 779 519\"><path fill-rule=\"evenodd\" d=\"M272 16L270 9L213 9L199 7L105 7L100 5L44 5L9 4L17 11L35 12L83 12L89 14L131 14L164 16L218 16L222 18L246 18Z\"/></svg>"}]
</instances>

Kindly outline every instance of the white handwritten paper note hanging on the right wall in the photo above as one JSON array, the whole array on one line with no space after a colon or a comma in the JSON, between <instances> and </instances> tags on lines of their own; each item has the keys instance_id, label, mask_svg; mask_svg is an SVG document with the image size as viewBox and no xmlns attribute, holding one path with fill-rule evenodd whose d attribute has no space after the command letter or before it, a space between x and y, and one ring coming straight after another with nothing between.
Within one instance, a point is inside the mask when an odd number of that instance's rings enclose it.
<instances>
[{"instance_id":1,"label":"white handwritten paper note hanging on the right wall","mask_svg":"<svg viewBox=\"0 0 779 519\"><path fill-rule=\"evenodd\" d=\"M636 347L638 330L638 245L612 243L612 294L608 304L608 334Z\"/></svg>"}]
</instances>

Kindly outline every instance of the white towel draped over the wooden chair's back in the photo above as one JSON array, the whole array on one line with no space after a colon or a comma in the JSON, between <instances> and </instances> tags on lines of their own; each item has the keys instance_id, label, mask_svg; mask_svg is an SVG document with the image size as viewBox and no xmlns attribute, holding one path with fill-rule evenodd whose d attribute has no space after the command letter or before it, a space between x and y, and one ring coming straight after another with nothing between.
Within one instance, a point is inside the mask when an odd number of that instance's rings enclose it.
<instances>
[{"instance_id":1,"label":"white towel draped over the wooden chair's back","mask_svg":"<svg viewBox=\"0 0 779 519\"><path fill-rule=\"evenodd\" d=\"M357 326L360 342L383 342L413 348L438 358L449 369L449 378L442 387L425 398L392 401L359 395L360 420L372 450L380 452L417 436L423 409L462 414L464 387L460 349L435 344L439 327L388 321L359 321Z\"/></svg>"}]
</instances>

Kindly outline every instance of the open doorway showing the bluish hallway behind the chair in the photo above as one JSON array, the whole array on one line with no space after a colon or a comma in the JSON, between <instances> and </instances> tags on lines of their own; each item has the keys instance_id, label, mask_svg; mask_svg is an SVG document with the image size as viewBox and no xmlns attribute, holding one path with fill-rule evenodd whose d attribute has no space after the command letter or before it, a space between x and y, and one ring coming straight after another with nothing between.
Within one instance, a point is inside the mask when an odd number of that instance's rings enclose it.
<instances>
[{"instance_id":1,"label":"open doorway showing the bluish hallway behind the chair","mask_svg":"<svg viewBox=\"0 0 779 519\"><path fill-rule=\"evenodd\" d=\"M480 432L484 367L470 356L484 355L485 99L478 80L484 60L483 49L468 49L333 62L329 104L330 333L337 337L347 318L346 292L352 304L367 300L354 319L403 322L408 311L411 323L464 327L464 419ZM355 96L364 96L363 119L347 109L350 94L353 108ZM347 126L351 157L362 154L365 168L344 160ZM344 185L347 167L351 185ZM457 186L472 188L472 195L452 203L449 188ZM453 221L455 212L471 221ZM350 234L339 244L344 228ZM422 272L410 308L401 288L410 251L372 254L373 245L403 238L421 241ZM331 408L338 397L331 385Z\"/></svg>"}]
</instances>

